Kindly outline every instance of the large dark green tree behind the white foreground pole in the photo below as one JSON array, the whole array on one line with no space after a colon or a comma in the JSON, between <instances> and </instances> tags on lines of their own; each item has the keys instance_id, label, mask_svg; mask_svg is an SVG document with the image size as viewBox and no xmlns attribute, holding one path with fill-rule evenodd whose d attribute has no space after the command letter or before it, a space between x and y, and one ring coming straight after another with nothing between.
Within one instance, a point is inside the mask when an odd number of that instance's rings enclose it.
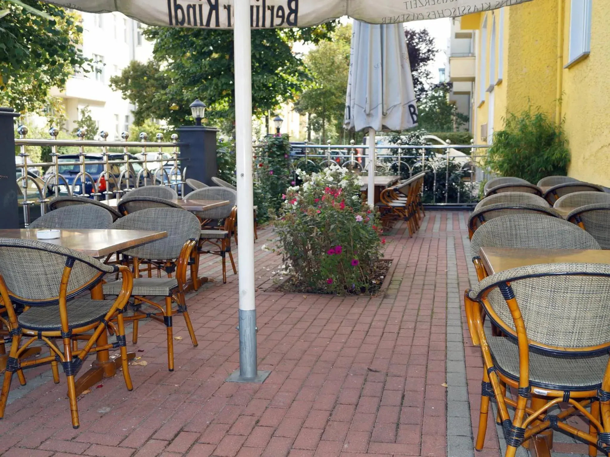
<instances>
[{"instance_id":1,"label":"large dark green tree behind the white foreground pole","mask_svg":"<svg viewBox=\"0 0 610 457\"><path fill-rule=\"evenodd\" d=\"M297 40L326 39L334 23L301 30L252 31L253 114L262 116L293 100L307 80L303 60L293 54ZM198 98L207 105L207 122L226 132L234 129L234 58L232 30L149 27L152 60L132 62L110 79L116 90L136 106L136 124L165 119L170 127L192 122L188 105Z\"/></svg>"}]
</instances>

